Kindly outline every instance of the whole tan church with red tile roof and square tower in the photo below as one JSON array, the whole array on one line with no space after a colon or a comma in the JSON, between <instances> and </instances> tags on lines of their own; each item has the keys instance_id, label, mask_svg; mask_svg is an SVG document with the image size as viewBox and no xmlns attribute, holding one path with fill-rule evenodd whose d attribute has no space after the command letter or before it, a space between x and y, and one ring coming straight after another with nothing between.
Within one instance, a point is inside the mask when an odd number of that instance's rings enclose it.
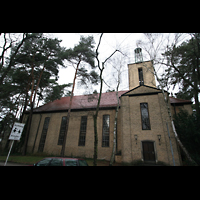
<instances>
[{"instance_id":1,"label":"whole tan church with red tile roof and square tower","mask_svg":"<svg viewBox=\"0 0 200 200\"><path fill-rule=\"evenodd\" d=\"M128 64L129 90L119 91L116 162L164 162L181 165L162 91L157 89L152 61L143 61L135 49L135 63ZM168 97L171 113L180 109L192 113L189 100ZM93 158L94 122L99 94L79 95L72 99L65 156ZM27 152L60 155L66 129L70 97L62 97L33 110ZM98 159L110 160L113 149L116 92L102 93L97 118ZM27 119L28 111L26 112ZM170 136L170 137L169 137Z\"/></svg>"}]
</instances>

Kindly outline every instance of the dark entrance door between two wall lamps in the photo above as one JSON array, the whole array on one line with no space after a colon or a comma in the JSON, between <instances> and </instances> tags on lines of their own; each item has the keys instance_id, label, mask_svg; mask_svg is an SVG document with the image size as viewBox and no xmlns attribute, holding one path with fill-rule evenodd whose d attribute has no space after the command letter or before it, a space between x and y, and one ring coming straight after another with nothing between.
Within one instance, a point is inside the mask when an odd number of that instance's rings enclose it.
<instances>
[{"instance_id":1,"label":"dark entrance door between two wall lamps","mask_svg":"<svg viewBox=\"0 0 200 200\"><path fill-rule=\"evenodd\" d=\"M155 162L155 151L153 142L142 142L144 161Z\"/></svg>"}]
</instances>

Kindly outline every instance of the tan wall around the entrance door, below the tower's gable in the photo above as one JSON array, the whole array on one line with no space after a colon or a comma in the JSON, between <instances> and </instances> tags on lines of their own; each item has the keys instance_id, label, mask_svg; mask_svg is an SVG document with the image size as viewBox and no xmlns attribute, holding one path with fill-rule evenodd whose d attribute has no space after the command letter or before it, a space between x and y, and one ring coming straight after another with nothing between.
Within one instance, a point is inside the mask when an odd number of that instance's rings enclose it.
<instances>
[{"instance_id":1,"label":"tan wall around the entrance door, below the tower's gable","mask_svg":"<svg viewBox=\"0 0 200 200\"><path fill-rule=\"evenodd\" d=\"M151 130L142 130L140 103L148 103ZM180 165L179 155L172 128L168 120L162 93L147 96L122 96L122 162L143 160L142 141L154 142L156 161L173 165L169 137L166 128L168 121L176 165ZM137 135L137 144L134 135ZM158 135L161 135L159 145Z\"/></svg>"}]
</instances>

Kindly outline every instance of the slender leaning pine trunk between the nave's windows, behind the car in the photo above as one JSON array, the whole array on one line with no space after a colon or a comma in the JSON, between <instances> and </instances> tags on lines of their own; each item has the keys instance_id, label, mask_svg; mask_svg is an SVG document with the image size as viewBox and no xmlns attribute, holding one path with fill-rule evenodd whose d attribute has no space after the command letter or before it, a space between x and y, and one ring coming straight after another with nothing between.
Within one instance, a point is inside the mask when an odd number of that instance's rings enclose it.
<instances>
[{"instance_id":1,"label":"slender leaning pine trunk between the nave's windows, behind the car","mask_svg":"<svg viewBox=\"0 0 200 200\"><path fill-rule=\"evenodd\" d=\"M66 130L65 130L64 139L63 139L63 145L62 145L62 149L61 149L61 153L60 153L61 157L64 157L64 155L65 155L65 146L66 146L68 126L69 126L69 118L70 118L70 114L71 114L72 99L73 99L73 94L74 94L76 75L77 75L77 72L78 72L78 67L80 65L80 62L81 62L81 58L79 59L79 62L78 62L77 67L76 67L75 75L74 75L72 92L71 92L71 96L70 96L70 103L69 103L69 108L68 108L68 112L67 112Z\"/></svg>"}]
</instances>

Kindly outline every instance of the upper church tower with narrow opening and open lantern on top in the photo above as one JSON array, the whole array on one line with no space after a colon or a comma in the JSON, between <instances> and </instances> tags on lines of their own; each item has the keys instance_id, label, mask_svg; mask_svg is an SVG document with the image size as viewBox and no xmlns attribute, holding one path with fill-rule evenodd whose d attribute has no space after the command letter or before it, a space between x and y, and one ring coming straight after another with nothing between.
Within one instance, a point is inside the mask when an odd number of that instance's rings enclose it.
<instances>
[{"instance_id":1,"label":"upper church tower with narrow opening and open lantern on top","mask_svg":"<svg viewBox=\"0 0 200 200\"><path fill-rule=\"evenodd\" d=\"M135 50L135 63L128 64L129 90L141 85L147 85L156 88L156 80L153 74L152 61L143 61L142 49Z\"/></svg>"}]
</instances>

